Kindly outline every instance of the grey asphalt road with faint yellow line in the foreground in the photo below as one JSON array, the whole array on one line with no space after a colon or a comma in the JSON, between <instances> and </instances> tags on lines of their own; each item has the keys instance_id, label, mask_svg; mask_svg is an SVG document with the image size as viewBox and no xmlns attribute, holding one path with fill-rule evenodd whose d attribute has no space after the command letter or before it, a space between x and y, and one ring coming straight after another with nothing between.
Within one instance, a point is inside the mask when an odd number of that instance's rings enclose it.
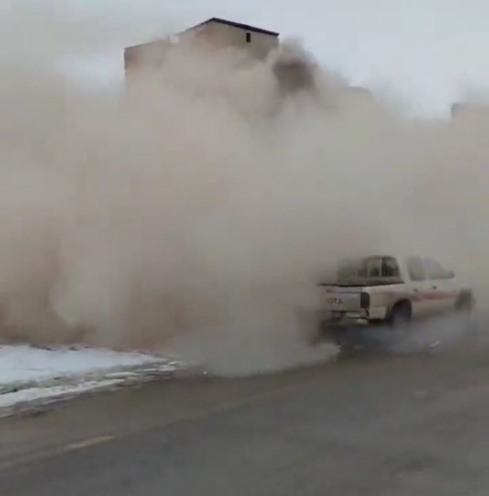
<instances>
[{"instance_id":1,"label":"grey asphalt road with faint yellow line in the foreground","mask_svg":"<svg viewBox=\"0 0 489 496\"><path fill-rule=\"evenodd\" d=\"M0 422L0 495L486 496L486 344L188 378Z\"/></svg>"}]
</instances>

